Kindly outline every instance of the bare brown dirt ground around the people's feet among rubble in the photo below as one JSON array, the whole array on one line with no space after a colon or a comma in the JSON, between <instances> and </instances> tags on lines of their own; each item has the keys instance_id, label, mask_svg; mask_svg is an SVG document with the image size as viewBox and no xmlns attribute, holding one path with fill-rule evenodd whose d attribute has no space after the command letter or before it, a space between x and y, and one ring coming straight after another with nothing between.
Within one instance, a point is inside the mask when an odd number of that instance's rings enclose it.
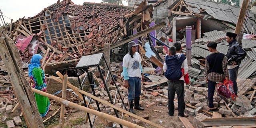
<instances>
[{"instance_id":1,"label":"bare brown dirt ground around the people's feet among rubble","mask_svg":"<svg viewBox=\"0 0 256 128\"><path fill-rule=\"evenodd\" d=\"M60 92L59 94L56 94L56 96L61 97L62 93ZM67 92L67 100L74 102L76 104L81 104L82 100L80 100L77 96L75 96L71 92ZM156 102L156 98L162 98L162 96L153 96L152 99L144 99L142 100L142 106L145 108L144 111L140 110L135 110L136 115L148 115L149 116L149 121L154 122L156 124L159 124L160 126L163 126L165 128L184 128L182 122L178 119L178 111L175 110L174 116L169 116L167 114L168 108L167 106L150 106L149 108L146 108L147 103L151 102ZM50 117L58 108L60 108L61 104L54 101L50 100L51 102L51 108L53 110L49 111L47 117L44 117L43 120L46 118ZM14 113L6 114L2 113L0 114L0 128L7 128L6 126L6 120L11 120L15 116L20 115L20 108L18 108ZM104 108L102 108L102 112L106 112ZM115 116L115 115L113 115ZM121 115L119 115L121 117ZM59 126L59 118L60 118L60 110L56 115L54 115L52 118L44 122L44 126L46 128L58 128ZM94 115L90 114L91 120L94 119ZM194 116L189 116L188 120L192 123ZM24 118L21 118L23 121L22 126L17 127L17 128L27 128L26 123L24 121ZM85 122L86 119L86 112L82 111L77 111L74 108L66 107L65 109L65 123L64 123L64 128L90 128L89 122ZM124 120L127 120L129 122L134 122L135 118L129 118L129 117L124 117ZM115 126L119 126L119 124L116 124L113 122ZM150 124L145 124L142 123L141 126L145 128L154 128L154 126L151 126ZM107 126L102 122L102 120L98 117L96 117L94 121L93 128L106 128ZM127 128L124 126L124 128Z\"/></svg>"}]
</instances>

